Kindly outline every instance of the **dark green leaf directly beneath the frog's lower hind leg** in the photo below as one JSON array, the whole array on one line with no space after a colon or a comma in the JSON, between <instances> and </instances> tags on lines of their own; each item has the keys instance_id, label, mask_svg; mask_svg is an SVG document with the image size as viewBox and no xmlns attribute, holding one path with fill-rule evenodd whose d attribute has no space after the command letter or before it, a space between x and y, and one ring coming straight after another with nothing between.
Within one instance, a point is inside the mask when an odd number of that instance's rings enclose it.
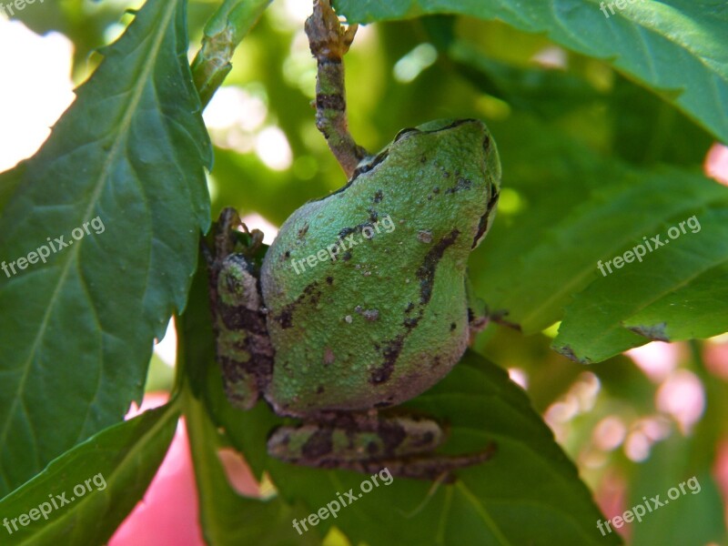
<instances>
[{"instance_id":1,"label":"dark green leaf directly beneath the frog's lower hind leg","mask_svg":"<svg viewBox=\"0 0 728 546\"><path fill-rule=\"evenodd\" d=\"M250 412L223 408L227 403L221 398L219 372L216 379L209 396L217 400L218 423L254 470L262 457L288 502L303 502L313 513L345 491L356 495L361 490L360 483L368 479L363 474L268 459L263 453L276 419L262 404ZM460 470L460 480L453 485L398 478L385 485L379 480L380 486L363 493L356 506L343 507L335 520L320 521L315 531L324 534L336 525L352 543L378 546L620 543L618 537L605 539L596 531L596 521L603 517L591 493L551 430L502 369L468 353L447 378L407 406L449 423L449 452L479 450L494 440L497 454Z\"/></svg>"}]
</instances>

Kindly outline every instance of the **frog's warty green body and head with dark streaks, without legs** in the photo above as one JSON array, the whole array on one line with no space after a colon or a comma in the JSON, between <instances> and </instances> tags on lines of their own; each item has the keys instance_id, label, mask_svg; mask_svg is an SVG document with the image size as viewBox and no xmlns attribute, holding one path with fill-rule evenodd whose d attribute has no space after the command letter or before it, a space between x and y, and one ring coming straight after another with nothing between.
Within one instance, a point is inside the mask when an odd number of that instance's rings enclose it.
<instances>
[{"instance_id":1,"label":"frog's warty green body and head with dark streaks, without legs","mask_svg":"<svg viewBox=\"0 0 728 546\"><path fill-rule=\"evenodd\" d=\"M440 120L400 132L346 187L288 218L261 269L275 349L263 394L279 414L397 405L450 371L470 333L468 257L500 179L482 122ZM306 263L350 234L358 245Z\"/></svg>"}]
</instances>

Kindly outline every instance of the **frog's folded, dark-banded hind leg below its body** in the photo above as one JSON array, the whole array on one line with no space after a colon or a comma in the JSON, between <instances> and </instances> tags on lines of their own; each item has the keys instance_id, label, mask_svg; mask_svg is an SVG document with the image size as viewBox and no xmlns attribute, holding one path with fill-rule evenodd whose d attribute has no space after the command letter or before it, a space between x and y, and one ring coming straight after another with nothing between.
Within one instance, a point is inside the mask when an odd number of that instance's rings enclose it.
<instances>
[{"instance_id":1,"label":"frog's folded, dark-banded hind leg below its body","mask_svg":"<svg viewBox=\"0 0 728 546\"><path fill-rule=\"evenodd\" d=\"M268 453L315 468L364 473L387 468L394 476L452 481L452 470L489 460L495 452L490 444L466 455L433 453L444 438L434 420L341 414L338 420L278 428L268 440Z\"/></svg>"}]
</instances>

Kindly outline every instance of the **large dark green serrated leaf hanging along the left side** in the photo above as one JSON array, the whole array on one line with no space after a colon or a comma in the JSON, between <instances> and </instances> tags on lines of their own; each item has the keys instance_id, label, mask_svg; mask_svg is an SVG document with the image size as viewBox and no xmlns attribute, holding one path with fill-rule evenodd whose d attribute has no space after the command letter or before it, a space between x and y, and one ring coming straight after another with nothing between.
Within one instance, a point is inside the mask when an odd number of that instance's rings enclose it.
<instances>
[{"instance_id":1,"label":"large dark green serrated leaf hanging along the left side","mask_svg":"<svg viewBox=\"0 0 728 546\"><path fill-rule=\"evenodd\" d=\"M0 275L0 308L13 309L0 315L0 494L121 420L153 338L185 307L210 163L185 5L148 0L102 51L0 219L8 262L69 244Z\"/></svg>"}]
</instances>

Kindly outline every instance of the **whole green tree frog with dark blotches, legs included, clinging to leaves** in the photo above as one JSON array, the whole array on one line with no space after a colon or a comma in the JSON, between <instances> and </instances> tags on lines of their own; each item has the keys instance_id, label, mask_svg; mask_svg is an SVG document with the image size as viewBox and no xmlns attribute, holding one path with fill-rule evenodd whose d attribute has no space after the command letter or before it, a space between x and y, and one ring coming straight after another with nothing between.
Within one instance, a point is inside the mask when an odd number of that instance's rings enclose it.
<instances>
[{"instance_id":1,"label":"whole green tree frog with dark blotches, legs included, clinging to leaves","mask_svg":"<svg viewBox=\"0 0 728 546\"><path fill-rule=\"evenodd\" d=\"M320 468L436 479L486 460L433 451L435 420L387 410L418 396L458 362L483 327L466 268L498 201L501 166L486 126L440 120L405 129L376 156L349 135L343 30L328 1L307 21L318 59L317 126L349 177L298 208L268 248L240 245L226 209L210 268L217 359L227 397L259 398L301 420L275 430L271 455Z\"/></svg>"}]
</instances>

